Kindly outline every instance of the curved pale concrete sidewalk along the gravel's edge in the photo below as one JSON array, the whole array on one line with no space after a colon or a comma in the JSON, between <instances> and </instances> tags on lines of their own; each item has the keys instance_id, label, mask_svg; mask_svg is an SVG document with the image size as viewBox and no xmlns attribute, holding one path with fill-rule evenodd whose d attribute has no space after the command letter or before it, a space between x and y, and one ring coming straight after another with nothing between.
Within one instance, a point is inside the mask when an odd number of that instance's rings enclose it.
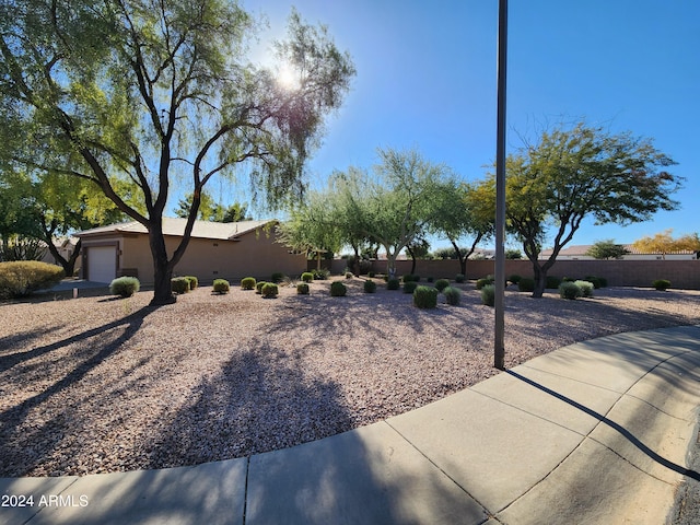
<instances>
[{"instance_id":1,"label":"curved pale concrete sidewalk along the gravel's edge","mask_svg":"<svg viewBox=\"0 0 700 525\"><path fill-rule=\"evenodd\" d=\"M656 525L679 482L700 483L687 468L699 407L700 326L621 334L292 448L0 479L34 498L0 506L0 523Z\"/></svg>"}]
</instances>

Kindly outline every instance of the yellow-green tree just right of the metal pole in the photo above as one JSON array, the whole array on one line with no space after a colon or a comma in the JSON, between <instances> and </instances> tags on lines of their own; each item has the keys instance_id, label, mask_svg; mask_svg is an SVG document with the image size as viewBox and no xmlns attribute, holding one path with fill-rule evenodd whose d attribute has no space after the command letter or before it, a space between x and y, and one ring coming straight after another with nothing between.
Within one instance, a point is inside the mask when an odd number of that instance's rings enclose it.
<instances>
[{"instance_id":1,"label":"yellow-green tree just right of the metal pole","mask_svg":"<svg viewBox=\"0 0 700 525\"><path fill-rule=\"evenodd\" d=\"M533 264L533 296L541 298L547 272L584 218L627 224L675 209L669 196L680 180L667 171L673 164L650 139L612 135L585 122L544 132L537 144L509 155L506 220ZM550 233L551 255L540 260Z\"/></svg>"}]
</instances>

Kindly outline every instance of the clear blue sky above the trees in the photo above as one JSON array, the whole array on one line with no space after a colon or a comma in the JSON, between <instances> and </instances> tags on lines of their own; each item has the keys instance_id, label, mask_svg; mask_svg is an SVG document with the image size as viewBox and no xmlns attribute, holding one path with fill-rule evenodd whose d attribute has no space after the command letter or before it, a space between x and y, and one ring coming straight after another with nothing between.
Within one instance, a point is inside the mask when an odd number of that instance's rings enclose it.
<instances>
[{"instance_id":1,"label":"clear blue sky above the trees","mask_svg":"<svg viewBox=\"0 0 700 525\"><path fill-rule=\"evenodd\" d=\"M518 135L585 117L654 138L686 177L678 211L627 228L587 223L571 244L700 231L700 2L509 3L509 148L522 144ZM497 0L245 1L269 19L262 43L283 35L292 4L326 24L358 70L310 163L314 180L372 166L378 147L417 148L467 179L483 177L495 156Z\"/></svg>"}]
</instances>

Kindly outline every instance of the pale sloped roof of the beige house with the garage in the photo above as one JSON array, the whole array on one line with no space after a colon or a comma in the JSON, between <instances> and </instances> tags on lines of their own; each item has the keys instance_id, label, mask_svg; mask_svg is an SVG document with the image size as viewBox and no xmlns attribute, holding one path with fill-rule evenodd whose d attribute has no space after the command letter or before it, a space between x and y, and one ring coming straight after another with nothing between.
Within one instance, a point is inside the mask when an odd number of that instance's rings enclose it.
<instances>
[{"instance_id":1,"label":"pale sloped roof of the beige house with the garage","mask_svg":"<svg viewBox=\"0 0 700 525\"><path fill-rule=\"evenodd\" d=\"M241 221L241 222L210 222L210 221L195 221L192 228L192 237L199 238L218 238L222 241L234 240L248 232L253 232L260 226L275 222L275 219L267 219L264 221ZM175 219L170 217L163 218L163 234L182 236L185 233L185 224L187 219ZM92 237L96 235L106 234L119 234L119 233L148 233L145 226L137 221L121 222L118 224L109 224L107 226L94 228L92 230L85 230L78 232L74 235L78 237Z\"/></svg>"}]
</instances>

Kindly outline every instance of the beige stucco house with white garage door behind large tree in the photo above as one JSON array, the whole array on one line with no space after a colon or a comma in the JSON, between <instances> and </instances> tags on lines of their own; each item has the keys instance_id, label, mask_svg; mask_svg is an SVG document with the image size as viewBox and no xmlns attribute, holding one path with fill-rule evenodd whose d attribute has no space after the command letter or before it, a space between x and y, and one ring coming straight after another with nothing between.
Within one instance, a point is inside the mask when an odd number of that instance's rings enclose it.
<instances>
[{"instance_id":1,"label":"beige stucco house with white garage door behind large tree","mask_svg":"<svg viewBox=\"0 0 700 525\"><path fill-rule=\"evenodd\" d=\"M163 218L168 255L179 244L186 219ZM242 222L196 221L185 255L175 267L176 276L195 276L202 282L244 277L269 279L281 271L298 276L306 271L306 257L294 255L276 242L276 220ZM138 277L153 283L153 257L149 236L139 222L126 222L77 233L82 238L81 277L110 282L115 277Z\"/></svg>"}]
</instances>

